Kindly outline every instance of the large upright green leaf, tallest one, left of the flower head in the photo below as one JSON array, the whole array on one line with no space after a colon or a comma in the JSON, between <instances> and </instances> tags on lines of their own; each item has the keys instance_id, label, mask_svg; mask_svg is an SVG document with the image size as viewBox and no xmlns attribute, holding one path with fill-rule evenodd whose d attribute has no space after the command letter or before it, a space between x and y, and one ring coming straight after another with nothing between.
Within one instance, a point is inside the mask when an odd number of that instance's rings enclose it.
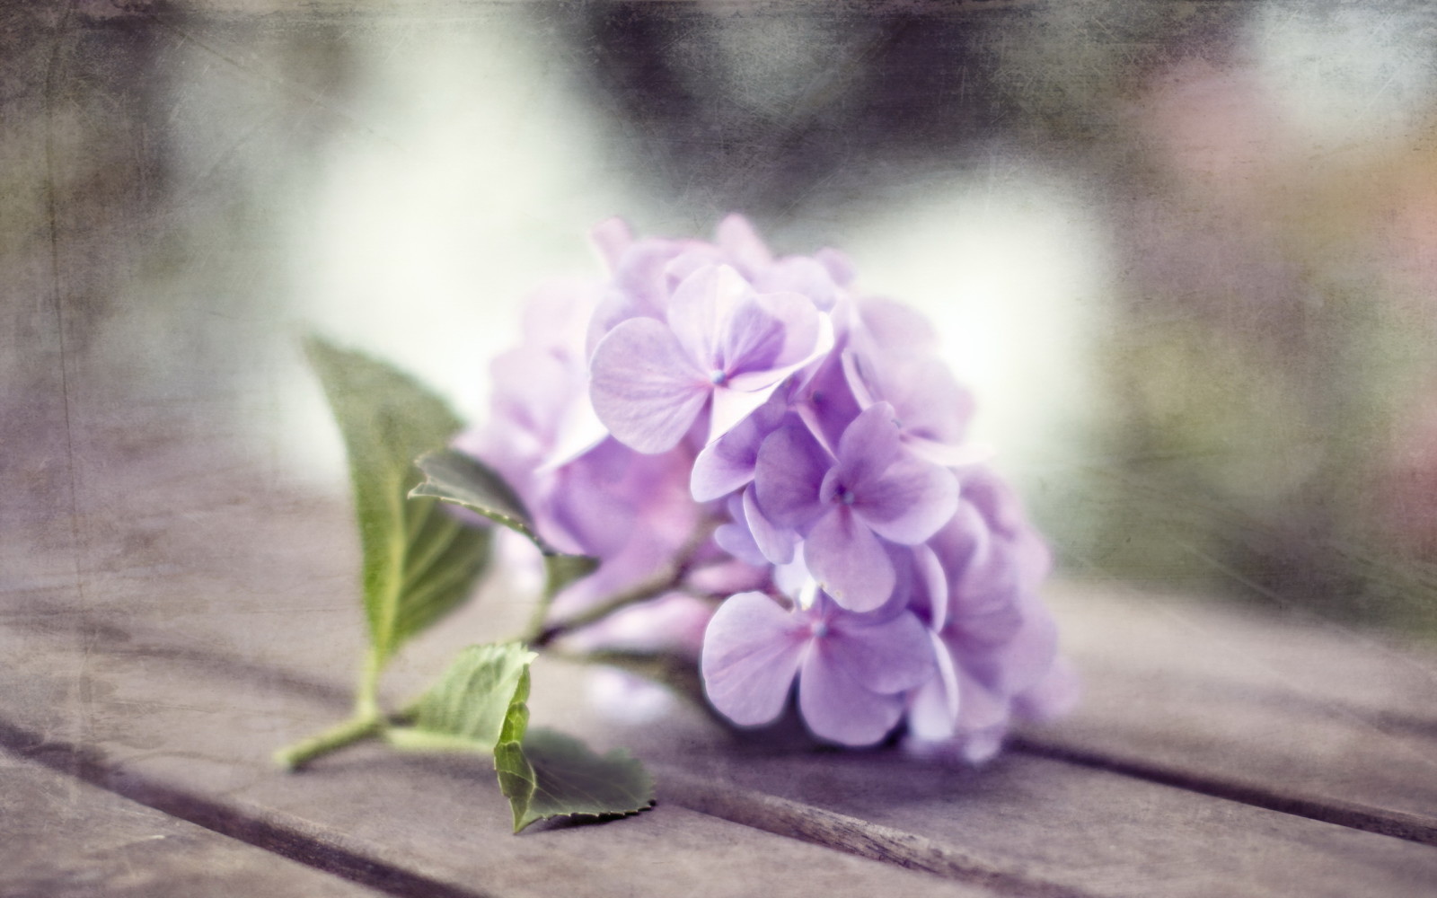
<instances>
[{"instance_id":1,"label":"large upright green leaf, tallest one, left of the flower head","mask_svg":"<svg viewBox=\"0 0 1437 898\"><path fill-rule=\"evenodd\" d=\"M491 534L466 527L434 500L411 501L414 458L461 427L443 399L411 376L319 338L305 341L343 435L364 550L371 662L379 668L415 634L463 603L489 563Z\"/></svg>"}]
</instances>

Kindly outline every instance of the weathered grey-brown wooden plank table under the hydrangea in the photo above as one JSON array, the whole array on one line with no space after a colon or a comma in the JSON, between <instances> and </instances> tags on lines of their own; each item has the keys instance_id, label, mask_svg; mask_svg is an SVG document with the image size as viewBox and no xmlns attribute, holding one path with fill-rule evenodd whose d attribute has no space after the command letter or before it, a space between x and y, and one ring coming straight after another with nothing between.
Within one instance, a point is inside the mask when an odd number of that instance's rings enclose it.
<instances>
[{"instance_id":1,"label":"weathered grey-brown wooden plank table under the hydrangea","mask_svg":"<svg viewBox=\"0 0 1437 898\"><path fill-rule=\"evenodd\" d=\"M76 411L3 468L0 895L1437 888L1437 654L1121 585L1053 583L1083 703L981 769L759 750L683 707L624 724L585 671L540 659L536 721L632 747L651 812L514 836L481 759L361 746L280 773L277 746L348 708L349 512L223 427L118 408ZM389 694L523 612L483 592Z\"/></svg>"}]
</instances>

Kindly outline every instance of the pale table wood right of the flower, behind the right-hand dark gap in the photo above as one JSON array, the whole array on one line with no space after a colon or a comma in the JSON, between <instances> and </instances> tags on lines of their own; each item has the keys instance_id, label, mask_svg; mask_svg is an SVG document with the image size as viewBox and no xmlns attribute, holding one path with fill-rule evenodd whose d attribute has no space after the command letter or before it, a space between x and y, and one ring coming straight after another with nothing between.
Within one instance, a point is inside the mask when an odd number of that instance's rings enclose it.
<instances>
[{"instance_id":1,"label":"pale table wood right of the flower, behind the right-hand dark gap","mask_svg":"<svg viewBox=\"0 0 1437 898\"><path fill-rule=\"evenodd\" d=\"M1437 843L1437 652L1111 585L1053 606L1086 694L1033 750Z\"/></svg>"}]
</instances>

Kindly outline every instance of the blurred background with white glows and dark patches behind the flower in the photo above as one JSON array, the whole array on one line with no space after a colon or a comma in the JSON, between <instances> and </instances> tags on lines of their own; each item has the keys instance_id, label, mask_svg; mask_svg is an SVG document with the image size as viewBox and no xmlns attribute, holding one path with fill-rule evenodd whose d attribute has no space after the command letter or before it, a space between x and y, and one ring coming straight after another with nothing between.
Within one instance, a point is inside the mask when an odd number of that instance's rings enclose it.
<instances>
[{"instance_id":1,"label":"blurred background with white glows and dark patches behind the flower","mask_svg":"<svg viewBox=\"0 0 1437 898\"><path fill-rule=\"evenodd\" d=\"M933 318L1066 576L1437 637L1434 79L1397 0L9 1L0 464L338 491L300 333L477 418L589 227L741 211Z\"/></svg>"}]
</instances>

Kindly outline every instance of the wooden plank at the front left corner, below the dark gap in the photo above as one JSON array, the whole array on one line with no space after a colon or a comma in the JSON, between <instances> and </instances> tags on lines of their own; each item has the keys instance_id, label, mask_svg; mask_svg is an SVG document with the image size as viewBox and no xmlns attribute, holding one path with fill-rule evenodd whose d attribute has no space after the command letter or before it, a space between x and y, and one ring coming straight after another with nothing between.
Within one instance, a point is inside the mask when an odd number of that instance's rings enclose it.
<instances>
[{"instance_id":1,"label":"wooden plank at the front left corner, below the dark gap","mask_svg":"<svg viewBox=\"0 0 1437 898\"><path fill-rule=\"evenodd\" d=\"M0 751L0 895L359 898L379 892Z\"/></svg>"}]
</instances>

